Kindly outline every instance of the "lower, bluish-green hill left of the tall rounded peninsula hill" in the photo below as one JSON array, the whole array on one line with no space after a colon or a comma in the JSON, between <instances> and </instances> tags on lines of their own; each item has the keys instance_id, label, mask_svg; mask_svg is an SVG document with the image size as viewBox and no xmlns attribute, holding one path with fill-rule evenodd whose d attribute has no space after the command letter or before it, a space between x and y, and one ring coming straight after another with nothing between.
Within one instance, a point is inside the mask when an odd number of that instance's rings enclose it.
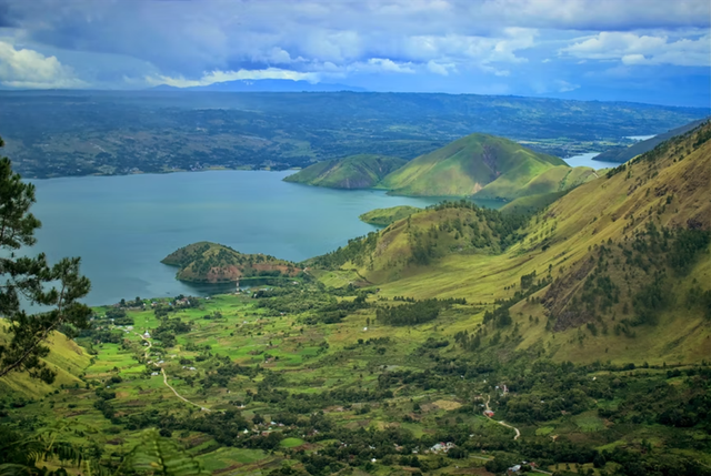
<instances>
[{"instance_id":1,"label":"lower, bluish-green hill left of the tall rounded peninsula hill","mask_svg":"<svg viewBox=\"0 0 711 476\"><path fill-rule=\"evenodd\" d=\"M387 155L351 155L317 162L284 181L330 189L370 189L405 163L403 159Z\"/></svg>"}]
</instances>

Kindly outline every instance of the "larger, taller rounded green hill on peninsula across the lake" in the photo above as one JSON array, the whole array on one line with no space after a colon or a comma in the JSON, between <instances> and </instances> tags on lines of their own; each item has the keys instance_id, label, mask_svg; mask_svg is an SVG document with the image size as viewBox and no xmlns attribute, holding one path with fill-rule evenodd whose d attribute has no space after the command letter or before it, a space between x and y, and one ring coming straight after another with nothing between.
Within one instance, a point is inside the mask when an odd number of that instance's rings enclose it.
<instances>
[{"instance_id":1,"label":"larger, taller rounded green hill on peninsula across the lake","mask_svg":"<svg viewBox=\"0 0 711 476\"><path fill-rule=\"evenodd\" d=\"M568 165L508 139L471 134L408 162L378 186L400 195L469 196L499 182L488 196L510 198L553 166Z\"/></svg>"}]
</instances>

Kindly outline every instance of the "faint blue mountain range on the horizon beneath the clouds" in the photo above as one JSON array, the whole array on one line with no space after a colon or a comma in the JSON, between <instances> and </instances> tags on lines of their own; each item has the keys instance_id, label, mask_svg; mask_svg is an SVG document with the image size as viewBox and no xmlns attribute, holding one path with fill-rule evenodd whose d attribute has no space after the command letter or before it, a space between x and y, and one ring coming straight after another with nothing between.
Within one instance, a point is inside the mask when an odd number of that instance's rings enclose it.
<instances>
[{"instance_id":1,"label":"faint blue mountain range on the horizon beneath the clouds","mask_svg":"<svg viewBox=\"0 0 711 476\"><path fill-rule=\"evenodd\" d=\"M212 91L212 92L332 92L332 91L354 91L364 92L363 88L337 83L310 83L309 81L294 80L236 80L216 82L208 85L193 85L189 88L177 88L168 84L160 84L151 88L152 91Z\"/></svg>"}]
</instances>

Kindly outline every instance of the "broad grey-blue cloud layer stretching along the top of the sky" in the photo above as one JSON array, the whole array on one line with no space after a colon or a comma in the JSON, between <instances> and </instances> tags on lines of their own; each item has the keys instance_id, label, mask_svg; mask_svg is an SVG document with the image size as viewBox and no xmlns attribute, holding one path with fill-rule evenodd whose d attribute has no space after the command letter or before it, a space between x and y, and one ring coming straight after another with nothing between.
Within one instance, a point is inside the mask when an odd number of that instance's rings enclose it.
<instances>
[{"instance_id":1,"label":"broad grey-blue cloud layer stretching along the top of the sky","mask_svg":"<svg viewBox=\"0 0 711 476\"><path fill-rule=\"evenodd\" d=\"M21 24L32 41L128 54L183 74L241 64L344 67L370 58L427 62L455 48L469 51L463 57L487 62L505 58L491 59L483 50L505 45L471 38L509 41L507 28L708 28L710 14L707 0L12 0L12 4L24 13Z\"/></svg>"}]
</instances>

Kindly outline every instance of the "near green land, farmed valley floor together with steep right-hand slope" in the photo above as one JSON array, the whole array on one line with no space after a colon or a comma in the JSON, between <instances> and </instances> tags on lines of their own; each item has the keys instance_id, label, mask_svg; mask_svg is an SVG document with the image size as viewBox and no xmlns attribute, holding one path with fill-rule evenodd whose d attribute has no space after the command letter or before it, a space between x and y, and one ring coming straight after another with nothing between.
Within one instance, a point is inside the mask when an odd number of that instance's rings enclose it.
<instances>
[{"instance_id":1,"label":"near green land, farmed valley floor together with steep right-hand slope","mask_svg":"<svg viewBox=\"0 0 711 476\"><path fill-rule=\"evenodd\" d=\"M709 138L531 214L429 207L298 280L97 307L69 381L0 379L0 470L709 475ZM191 246L168 261L229 254Z\"/></svg>"}]
</instances>

